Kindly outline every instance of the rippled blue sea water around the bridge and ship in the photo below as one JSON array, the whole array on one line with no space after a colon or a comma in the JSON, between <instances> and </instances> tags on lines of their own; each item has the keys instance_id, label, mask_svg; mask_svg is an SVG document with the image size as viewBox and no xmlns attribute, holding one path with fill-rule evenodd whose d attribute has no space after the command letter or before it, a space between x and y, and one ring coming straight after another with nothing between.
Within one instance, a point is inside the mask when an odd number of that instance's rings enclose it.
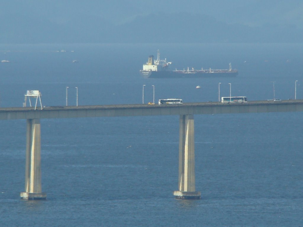
<instances>
[{"instance_id":1,"label":"rippled blue sea water around the bridge and ship","mask_svg":"<svg viewBox=\"0 0 303 227\"><path fill-rule=\"evenodd\" d=\"M238 69L235 78L144 79L148 55L172 69ZM64 50L64 51L62 51ZM0 45L0 107L303 99L302 44ZM65 52L66 51L66 52ZM77 62L73 62L77 60ZM295 81L298 81L295 83ZM231 83L231 87L228 83ZM199 85L200 89L195 87ZM68 87L68 89L66 88ZM275 94L274 94L275 93ZM41 120L42 192L22 201L25 120L0 127L1 226L302 226L303 113L195 115L201 199L178 200L179 116Z\"/></svg>"}]
</instances>

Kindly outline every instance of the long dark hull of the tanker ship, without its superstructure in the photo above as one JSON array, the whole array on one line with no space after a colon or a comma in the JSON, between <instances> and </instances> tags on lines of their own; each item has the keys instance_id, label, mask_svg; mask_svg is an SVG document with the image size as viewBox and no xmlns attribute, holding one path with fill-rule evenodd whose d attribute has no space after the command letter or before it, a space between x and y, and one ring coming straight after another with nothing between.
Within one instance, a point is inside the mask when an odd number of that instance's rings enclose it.
<instances>
[{"instance_id":1,"label":"long dark hull of the tanker ship, without its superstructure","mask_svg":"<svg viewBox=\"0 0 303 227\"><path fill-rule=\"evenodd\" d=\"M236 77L238 71L232 70L197 70L197 71L144 71L140 70L144 78L211 78L211 77Z\"/></svg>"}]
</instances>

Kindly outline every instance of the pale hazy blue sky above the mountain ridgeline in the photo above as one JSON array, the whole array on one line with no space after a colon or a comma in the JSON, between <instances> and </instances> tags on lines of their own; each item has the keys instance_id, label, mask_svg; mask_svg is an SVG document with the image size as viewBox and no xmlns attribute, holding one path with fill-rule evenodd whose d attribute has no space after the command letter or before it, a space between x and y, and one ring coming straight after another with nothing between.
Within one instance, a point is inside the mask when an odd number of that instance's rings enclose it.
<instances>
[{"instance_id":1,"label":"pale hazy blue sky above the mountain ridgeline","mask_svg":"<svg viewBox=\"0 0 303 227\"><path fill-rule=\"evenodd\" d=\"M137 15L148 15L153 12L190 12L211 15L227 23L303 26L301 0L1 0L1 2L1 14L39 15L58 23L64 23L76 15L102 15L108 21L121 24ZM9 22L9 18L6 22Z\"/></svg>"}]
</instances>

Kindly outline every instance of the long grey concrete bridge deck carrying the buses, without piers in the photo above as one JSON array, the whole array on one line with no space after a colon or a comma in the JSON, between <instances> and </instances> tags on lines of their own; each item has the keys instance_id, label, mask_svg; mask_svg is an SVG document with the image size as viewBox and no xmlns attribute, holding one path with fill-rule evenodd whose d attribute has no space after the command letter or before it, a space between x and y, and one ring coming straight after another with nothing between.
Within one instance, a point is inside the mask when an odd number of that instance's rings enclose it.
<instances>
[{"instance_id":1,"label":"long grey concrete bridge deck carrying the buses, without piers","mask_svg":"<svg viewBox=\"0 0 303 227\"><path fill-rule=\"evenodd\" d=\"M45 106L0 108L0 120L77 118L77 117L126 117L153 115L188 115L221 113L264 113L303 111L303 100L249 101L227 104L221 102L183 103L171 105L122 104L95 106Z\"/></svg>"}]
</instances>

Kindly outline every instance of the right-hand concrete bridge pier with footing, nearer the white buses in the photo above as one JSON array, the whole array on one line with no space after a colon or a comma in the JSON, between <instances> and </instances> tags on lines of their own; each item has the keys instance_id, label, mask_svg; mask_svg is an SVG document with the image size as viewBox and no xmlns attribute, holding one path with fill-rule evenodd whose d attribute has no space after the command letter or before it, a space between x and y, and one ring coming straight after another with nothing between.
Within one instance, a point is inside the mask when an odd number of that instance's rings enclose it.
<instances>
[{"instance_id":1,"label":"right-hand concrete bridge pier with footing, nearer the white buses","mask_svg":"<svg viewBox=\"0 0 303 227\"><path fill-rule=\"evenodd\" d=\"M195 189L194 115L180 115L179 120L179 190L177 199L200 199Z\"/></svg>"}]
</instances>

